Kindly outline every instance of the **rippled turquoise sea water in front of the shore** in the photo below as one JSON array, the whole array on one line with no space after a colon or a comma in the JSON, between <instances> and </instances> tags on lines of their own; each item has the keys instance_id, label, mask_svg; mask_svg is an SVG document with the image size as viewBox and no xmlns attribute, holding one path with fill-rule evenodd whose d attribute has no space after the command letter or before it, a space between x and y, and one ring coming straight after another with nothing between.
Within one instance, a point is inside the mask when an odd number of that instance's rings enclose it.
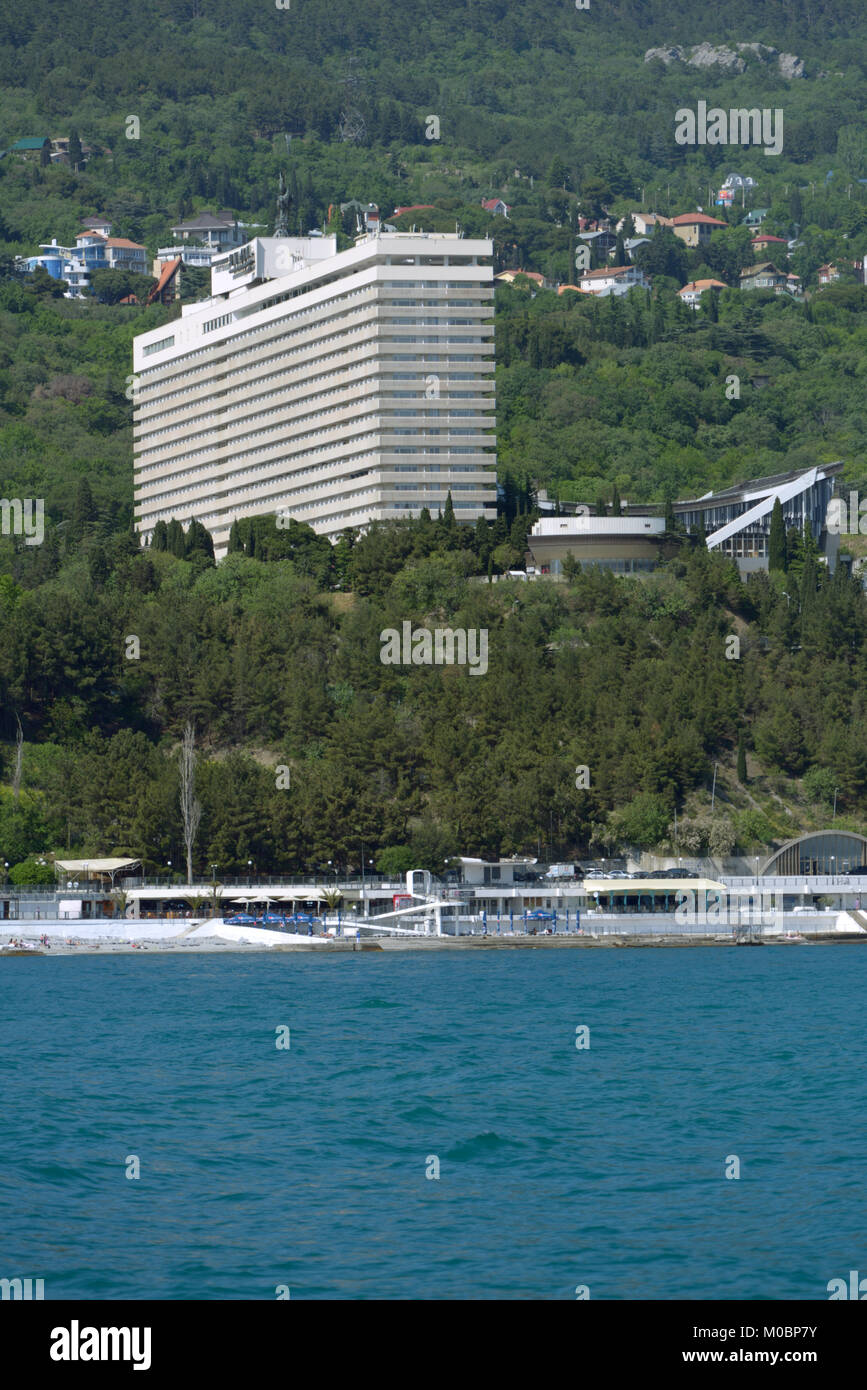
<instances>
[{"instance_id":1,"label":"rippled turquoise sea water in front of the shore","mask_svg":"<svg viewBox=\"0 0 867 1390\"><path fill-rule=\"evenodd\" d=\"M857 945L7 959L0 1276L827 1298L867 1270L866 988Z\"/></svg>"}]
</instances>

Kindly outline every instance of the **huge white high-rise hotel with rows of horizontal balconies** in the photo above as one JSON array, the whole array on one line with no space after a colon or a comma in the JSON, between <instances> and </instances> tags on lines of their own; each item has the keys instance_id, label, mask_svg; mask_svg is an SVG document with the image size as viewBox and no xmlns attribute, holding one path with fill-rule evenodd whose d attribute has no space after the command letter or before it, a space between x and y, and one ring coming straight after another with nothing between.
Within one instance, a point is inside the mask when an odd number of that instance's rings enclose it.
<instances>
[{"instance_id":1,"label":"huge white high-rise hotel with rows of horizontal balconies","mask_svg":"<svg viewBox=\"0 0 867 1390\"><path fill-rule=\"evenodd\" d=\"M278 513L346 527L496 516L492 243L382 232L265 236L220 257L213 297L133 346L135 516Z\"/></svg>"}]
</instances>

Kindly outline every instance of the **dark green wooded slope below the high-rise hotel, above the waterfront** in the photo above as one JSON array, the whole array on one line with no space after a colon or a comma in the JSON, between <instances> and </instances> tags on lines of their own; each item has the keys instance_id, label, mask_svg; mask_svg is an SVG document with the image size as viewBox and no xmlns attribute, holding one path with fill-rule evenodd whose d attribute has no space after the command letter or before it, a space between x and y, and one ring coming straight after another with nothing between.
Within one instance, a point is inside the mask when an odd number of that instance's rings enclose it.
<instances>
[{"instance_id":1,"label":"dark green wooded slope below the high-rise hotel, above the waterfront","mask_svg":"<svg viewBox=\"0 0 867 1390\"><path fill-rule=\"evenodd\" d=\"M675 808L681 852L748 852L821 824L835 790L838 823L864 824L867 607L803 548L748 585L688 542L646 582L489 585L452 517L375 527L342 574L317 571L320 545L302 527L292 559L214 567L195 545L106 541L82 503L51 573L46 546L7 557L0 698L25 739L18 799L6 745L10 862L178 863L188 720L196 863L224 873L357 866L361 842L432 869L459 851L664 848ZM486 630L488 671L383 664L382 632L406 620Z\"/></svg>"}]
</instances>

